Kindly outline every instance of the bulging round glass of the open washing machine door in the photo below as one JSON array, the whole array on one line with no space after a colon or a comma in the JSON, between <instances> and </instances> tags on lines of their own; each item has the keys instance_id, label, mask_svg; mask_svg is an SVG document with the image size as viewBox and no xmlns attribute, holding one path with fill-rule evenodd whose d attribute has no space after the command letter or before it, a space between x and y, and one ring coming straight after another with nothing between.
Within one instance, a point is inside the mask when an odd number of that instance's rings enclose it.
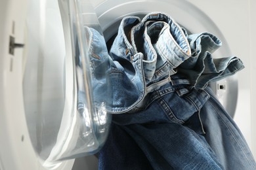
<instances>
[{"instance_id":1,"label":"bulging round glass of the open washing machine door","mask_svg":"<svg viewBox=\"0 0 256 170\"><path fill-rule=\"evenodd\" d=\"M62 160L95 154L104 144L111 120L110 63L88 1L29 4L24 108L33 148L42 164L53 168ZM96 53L92 31L103 42Z\"/></svg>"}]
</instances>

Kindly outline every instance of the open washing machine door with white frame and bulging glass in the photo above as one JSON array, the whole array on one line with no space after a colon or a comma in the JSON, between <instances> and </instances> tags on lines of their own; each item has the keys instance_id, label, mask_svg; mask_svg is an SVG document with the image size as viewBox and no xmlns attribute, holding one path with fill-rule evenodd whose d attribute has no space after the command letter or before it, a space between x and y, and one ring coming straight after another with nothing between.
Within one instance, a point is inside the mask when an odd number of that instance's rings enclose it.
<instances>
[{"instance_id":1,"label":"open washing machine door with white frame and bulging glass","mask_svg":"<svg viewBox=\"0 0 256 170\"><path fill-rule=\"evenodd\" d=\"M111 120L94 9L82 0L0 6L0 169L71 169L67 160L98 152Z\"/></svg>"}]
</instances>

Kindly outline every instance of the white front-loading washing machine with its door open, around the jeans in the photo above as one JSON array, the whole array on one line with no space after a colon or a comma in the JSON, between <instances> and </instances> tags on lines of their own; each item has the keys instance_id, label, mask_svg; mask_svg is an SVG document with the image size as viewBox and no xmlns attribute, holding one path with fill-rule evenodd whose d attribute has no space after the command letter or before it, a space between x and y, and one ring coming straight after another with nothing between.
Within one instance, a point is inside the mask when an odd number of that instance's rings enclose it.
<instances>
[{"instance_id":1,"label":"white front-loading washing machine with its door open, around the jeans","mask_svg":"<svg viewBox=\"0 0 256 170\"><path fill-rule=\"evenodd\" d=\"M123 17L153 11L219 37L214 57L242 59L244 70L210 86L256 156L255 8L253 0L1 0L0 169L97 169L111 115L104 102L95 109L84 26L111 46Z\"/></svg>"}]
</instances>

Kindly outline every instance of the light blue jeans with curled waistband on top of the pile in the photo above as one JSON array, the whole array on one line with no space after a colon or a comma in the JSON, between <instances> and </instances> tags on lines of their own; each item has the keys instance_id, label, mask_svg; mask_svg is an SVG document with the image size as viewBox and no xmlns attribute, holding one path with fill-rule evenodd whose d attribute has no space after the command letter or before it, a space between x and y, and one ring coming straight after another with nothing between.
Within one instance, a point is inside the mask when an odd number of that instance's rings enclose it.
<instances>
[{"instance_id":1,"label":"light blue jeans with curled waistband on top of the pile","mask_svg":"<svg viewBox=\"0 0 256 170\"><path fill-rule=\"evenodd\" d=\"M161 22L155 24L154 21ZM160 31L154 31L156 27ZM152 44L154 37L159 37L156 48ZM155 12L141 22L135 16L123 18L110 56L119 65L118 70L128 77L128 80L113 78L113 86L119 84L114 92L114 113L137 112L137 108L144 105L146 95L169 82L169 76L177 73L175 67L190 57L190 46L184 30L174 20L167 14ZM140 68L135 67L135 61ZM130 84L135 83L136 86L130 88Z\"/></svg>"}]
</instances>

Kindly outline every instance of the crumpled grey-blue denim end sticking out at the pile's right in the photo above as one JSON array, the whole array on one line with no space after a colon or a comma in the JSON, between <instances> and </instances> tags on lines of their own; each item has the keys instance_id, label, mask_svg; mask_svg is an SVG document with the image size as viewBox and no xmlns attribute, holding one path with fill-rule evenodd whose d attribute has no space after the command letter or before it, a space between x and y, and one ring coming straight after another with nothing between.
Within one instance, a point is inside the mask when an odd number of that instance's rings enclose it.
<instances>
[{"instance_id":1,"label":"crumpled grey-blue denim end sticking out at the pile's right","mask_svg":"<svg viewBox=\"0 0 256 170\"><path fill-rule=\"evenodd\" d=\"M212 53L221 46L221 41L210 33L188 35L192 56L184 61L179 72L189 76L194 88L203 89L209 82L221 80L244 69L244 65L235 56L213 58Z\"/></svg>"}]
</instances>

